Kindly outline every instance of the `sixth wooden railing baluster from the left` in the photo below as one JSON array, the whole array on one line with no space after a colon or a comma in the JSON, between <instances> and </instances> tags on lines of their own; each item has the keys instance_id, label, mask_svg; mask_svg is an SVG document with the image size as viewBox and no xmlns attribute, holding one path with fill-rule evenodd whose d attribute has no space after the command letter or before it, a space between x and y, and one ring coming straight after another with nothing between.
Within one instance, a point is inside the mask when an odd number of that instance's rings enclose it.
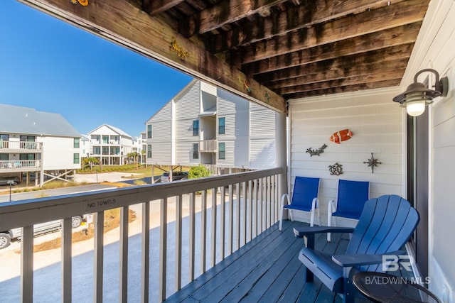
<instances>
[{"instance_id":1,"label":"sixth wooden railing baluster from the left","mask_svg":"<svg viewBox=\"0 0 455 303\"><path fill-rule=\"evenodd\" d=\"M168 198L161 199L159 212L159 300L166 299L166 265L168 238Z\"/></svg>"}]
</instances>

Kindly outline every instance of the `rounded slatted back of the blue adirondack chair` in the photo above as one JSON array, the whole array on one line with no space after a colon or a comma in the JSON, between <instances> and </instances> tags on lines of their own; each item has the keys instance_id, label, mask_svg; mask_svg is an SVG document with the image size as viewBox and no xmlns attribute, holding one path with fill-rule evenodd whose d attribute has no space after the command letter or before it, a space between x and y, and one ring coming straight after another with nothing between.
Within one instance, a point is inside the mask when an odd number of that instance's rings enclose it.
<instances>
[{"instance_id":1,"label":"rounded slatted back of the blue adirondack chair","mask_svg":"<svg viewBox=\"0 0 455 303\"><path fill-rule=\"evenodd\" d=\"M369 199L363 208L346 253L375 254L400 250L419 223L419 213L397 195ZM380 265L362 270L380 271Z\"/></svg>"}]
</instances>

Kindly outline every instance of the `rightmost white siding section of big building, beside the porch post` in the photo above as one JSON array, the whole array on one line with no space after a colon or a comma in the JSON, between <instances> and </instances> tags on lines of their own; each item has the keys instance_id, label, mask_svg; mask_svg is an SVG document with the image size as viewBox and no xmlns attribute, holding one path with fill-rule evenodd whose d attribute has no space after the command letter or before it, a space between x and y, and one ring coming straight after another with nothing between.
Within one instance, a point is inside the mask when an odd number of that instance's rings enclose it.
<instances>
[{"instance_id":1,"label":"rightmost white siding section of big building, beside the porch post","mask_svg":"<svg viewBox=\"0 0 455 303\"><path fill-rule=\"evenodd\" d=\"M276 166L275 112L250 102L250 167Z\"/></svg>"}]
</instances>

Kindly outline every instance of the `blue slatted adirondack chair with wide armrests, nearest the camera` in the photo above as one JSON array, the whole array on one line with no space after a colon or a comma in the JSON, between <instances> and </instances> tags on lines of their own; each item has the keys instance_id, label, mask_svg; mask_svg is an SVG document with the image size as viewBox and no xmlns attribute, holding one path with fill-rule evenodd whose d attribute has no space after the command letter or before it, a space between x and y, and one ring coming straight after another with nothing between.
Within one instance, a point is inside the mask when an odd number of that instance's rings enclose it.
<instances>
[{"instance_id":1,"label":"blue slatted adirondack chair with wide armrests, nearest the camera","mask_svg":"<svg viewBox=\"0 0 455 303\"><path fill-rule=\"evenodd\" d=\"M410 239L418 223L419 214L406 199L386 195L365 203L355 228L294 228L297 238L307 238L306 248L299 253L299 260L306 267L306 281L313 281L316 275L330 290L343 294L343 302L354 302L354 295L358 292L352 283L353 275L360 271L383 272L382 256L400 258L405 254L400 249ZM345 254L330 255L314 250L315 234L327 232L352 233Z\"/></svg>"}]
</instances>

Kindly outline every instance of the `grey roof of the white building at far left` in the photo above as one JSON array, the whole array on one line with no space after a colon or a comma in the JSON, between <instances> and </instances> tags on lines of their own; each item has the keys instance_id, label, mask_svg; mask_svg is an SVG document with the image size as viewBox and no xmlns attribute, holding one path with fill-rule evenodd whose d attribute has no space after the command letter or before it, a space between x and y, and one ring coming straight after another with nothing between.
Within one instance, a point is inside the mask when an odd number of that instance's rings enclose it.
<instances>
[{"instance_id":1,"label":"grey roof of the white building at far left","mask_svg":"<svg viewBox=\"0 0 455 303\"><path fill-rule=\"evenodd\" d=\"M80 137L80 133L60 114L9 104L0 104L0 131L2 133Z\"/></svg>"}]
</instances>

